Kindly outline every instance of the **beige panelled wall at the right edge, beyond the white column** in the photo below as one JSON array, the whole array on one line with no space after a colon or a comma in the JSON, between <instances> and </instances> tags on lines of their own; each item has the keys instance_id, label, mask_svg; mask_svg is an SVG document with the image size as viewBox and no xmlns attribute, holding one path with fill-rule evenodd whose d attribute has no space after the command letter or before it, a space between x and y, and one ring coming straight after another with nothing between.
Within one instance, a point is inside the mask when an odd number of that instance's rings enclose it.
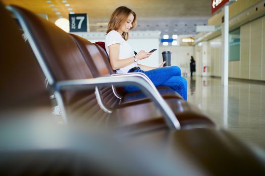
<instances>
[{"instance_id":1,"label":"beige panelled wall at the right edge, beyond the white column","mask_svg":"<svg viewBox=\"0 0 265 176\"><path fill-rule=\"evenodd\" d=\"M229 62L229 77L265 80L265 17L240 27L240 60Z\"/></svg>"}]
</instances>

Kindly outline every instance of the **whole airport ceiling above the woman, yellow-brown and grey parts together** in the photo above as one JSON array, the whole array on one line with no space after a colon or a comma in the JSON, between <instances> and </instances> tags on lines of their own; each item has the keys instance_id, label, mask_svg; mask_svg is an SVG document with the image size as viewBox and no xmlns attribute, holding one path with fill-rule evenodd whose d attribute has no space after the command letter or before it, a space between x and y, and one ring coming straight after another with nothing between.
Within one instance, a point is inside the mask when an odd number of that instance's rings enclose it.
<instances>
[{"instance_id":1,"label":"whole airport ceiling above the woman, yellow-brown and grey parts together","mask_svg":"<svg viewBox=\"0 0 265 176\"><path fill-rule=\"evenodd\" d=\"M91 32L105 32L112 12L119 6L127 6L137 14L138 23L135 30L160 30L162 35L194 35L196 26L206 25L207 20L211 17L210 0L2 1L7 5L19 5L36 14L46 14L51 22L55 22L61 17L68 19L69 12L86 13L88 14Z\"/></svg>"}]
</instances>

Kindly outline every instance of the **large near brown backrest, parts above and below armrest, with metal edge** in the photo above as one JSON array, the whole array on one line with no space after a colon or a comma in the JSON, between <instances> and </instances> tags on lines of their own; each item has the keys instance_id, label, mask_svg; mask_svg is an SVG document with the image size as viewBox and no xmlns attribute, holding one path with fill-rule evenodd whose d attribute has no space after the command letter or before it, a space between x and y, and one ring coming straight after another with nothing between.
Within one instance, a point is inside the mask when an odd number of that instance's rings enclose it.
<instances>
[{"instance_id":1,"label":"large near brown backrest, parts above and below armrest, with metal edge","mask_svg":"<svg viewBox=\"0 0 265 176\"><path fill-rule=\"evenodd\" d=\"M26 35L30 37L29 43L32 48L37 48L35 55L42 68L46 65L51 75L50 77L47 75L49 79L57 82L93 78L79 48L68 33L24 8L11 7L15 14L23 20L25 24L24 27L22 26L23 30L28 31ZM41 60L44 64L41 63ZM66 113L70 117L79 117L80 120L85 120L108 116L98 106L94 90L69 90L63 91L61 94Z\"/></svg>"}]
</instances>

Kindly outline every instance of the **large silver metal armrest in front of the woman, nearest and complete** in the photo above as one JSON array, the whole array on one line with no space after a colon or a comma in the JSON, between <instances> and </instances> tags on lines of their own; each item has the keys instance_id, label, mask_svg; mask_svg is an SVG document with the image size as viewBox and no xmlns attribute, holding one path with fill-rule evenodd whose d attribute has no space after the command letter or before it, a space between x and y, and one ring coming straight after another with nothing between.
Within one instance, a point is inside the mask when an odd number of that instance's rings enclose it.
<instances>
[{"instance_id":1,"label":"large silver metal armrest in front of the woman, nearest and complete","mask_svg":"<svg viewBox=\"0 0 265 176\"><path fill-rule=\"evenodd\" d=\"M78 79L78 80L66 80L60 81L55 84L55 90L68 90L68 89L79 89L84 90L87 88L94 88L95 86L105 86L105 85L136 85L138 86L156 106L161 110L167 125L171 129L180 129L180 123L177 120L175 114L166 103L166 101L161 97L158 91L153 89L153 87L146 82L142 77L135 75L116 75L109 77L98 77L92 79Z\"/></svg>"}]
</instances>

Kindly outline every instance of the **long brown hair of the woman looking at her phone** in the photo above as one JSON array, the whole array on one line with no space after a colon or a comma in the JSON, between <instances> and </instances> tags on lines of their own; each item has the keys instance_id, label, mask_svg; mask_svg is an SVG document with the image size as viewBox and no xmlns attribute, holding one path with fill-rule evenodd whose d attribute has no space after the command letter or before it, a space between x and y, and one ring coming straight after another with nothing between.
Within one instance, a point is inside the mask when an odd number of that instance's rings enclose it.
<instances>
[{"instance_id":1,"label":"long brown hair of the woman looking at her phone","mask_svg":"<svg viewBox=\"0 0 265 176\"><path fill-rule=\"evenodd\" d=\"M113 12L111 19L110 19L110 22L108 24L107 34L109 32L111 32L112 30L117 31L118 29L120 29L122 24L127 21L130 14L132 14L134 17L131 29L135 28L135 26L137 24L136 14L131 9L124 7L124 6L121 6ZM124 40L128 40L129 33L123 32L122 37L124 38Z\"/></svg>"}]
</instances>

